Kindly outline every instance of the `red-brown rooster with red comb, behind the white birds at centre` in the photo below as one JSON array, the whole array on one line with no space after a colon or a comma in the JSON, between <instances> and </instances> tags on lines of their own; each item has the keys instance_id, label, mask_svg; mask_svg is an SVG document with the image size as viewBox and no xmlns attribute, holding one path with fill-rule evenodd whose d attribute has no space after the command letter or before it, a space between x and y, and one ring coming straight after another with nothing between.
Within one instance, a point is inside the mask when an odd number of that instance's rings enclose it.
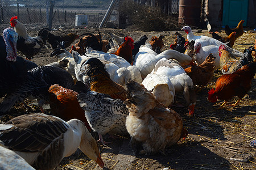
<instances>
[{"instance_id":1,"label":"red-brown rooster with red comb, behind the white birds at centre","mask_svg":"<svg viewBox=\"0 0 256 170\"><path fill-rule=\"evenodd\" d=\"M117 56L125 58L126 61L131 63L133 61L133 49L134 43L133 39L130 36L125 37L125 42L119 46L117 52L113 53Z\"/></svg>"}]
</instances>

